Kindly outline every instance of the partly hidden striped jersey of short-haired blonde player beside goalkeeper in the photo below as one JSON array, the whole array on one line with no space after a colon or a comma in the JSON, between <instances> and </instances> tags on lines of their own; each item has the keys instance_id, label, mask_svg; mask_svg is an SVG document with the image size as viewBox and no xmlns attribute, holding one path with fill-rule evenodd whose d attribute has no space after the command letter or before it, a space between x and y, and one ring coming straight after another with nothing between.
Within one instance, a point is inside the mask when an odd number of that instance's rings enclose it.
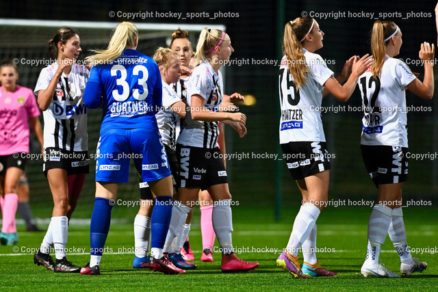
<instances>
[{"instance_id":1,"label":"partly hidden striped jersey of short-haired blonde player beside goalkeeper","mask_svg":"<svg viewBox=\"0 0 438 292\"><path fill-rule=\"evenodd\" d=\"M177 114L170 110L170 106L178 101L181 101L177 92L175 92L168 83L162 80L163 84L163 104L162 108L155 114L160 135L164 145L167 145L172 150L177 149L177 138L175 124L177 122Z\"/></svg>"}]
</instances>

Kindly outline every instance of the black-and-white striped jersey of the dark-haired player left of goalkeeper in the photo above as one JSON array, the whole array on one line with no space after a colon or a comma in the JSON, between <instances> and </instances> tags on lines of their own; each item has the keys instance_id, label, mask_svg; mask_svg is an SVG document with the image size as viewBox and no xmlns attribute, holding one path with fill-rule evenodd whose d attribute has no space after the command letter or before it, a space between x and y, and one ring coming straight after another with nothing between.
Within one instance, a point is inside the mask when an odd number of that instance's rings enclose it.
<instances>
[{"instance_id":1,"label":"black-and-white striped jersey of the dark-haired player left of goalkeeper","mask_svg":"<svg viewBox=\"0 0 438 292\"><path fill-rule=\"evenodd\" d=\"M46 90L58 64L42 69L34 93ZM44 148L55 147L70 151L88 150L87 108L83 105L83 90L90 71L73 64L70 74L57 81L49 107L43 111Z\"/></svg>"}]
</instances>

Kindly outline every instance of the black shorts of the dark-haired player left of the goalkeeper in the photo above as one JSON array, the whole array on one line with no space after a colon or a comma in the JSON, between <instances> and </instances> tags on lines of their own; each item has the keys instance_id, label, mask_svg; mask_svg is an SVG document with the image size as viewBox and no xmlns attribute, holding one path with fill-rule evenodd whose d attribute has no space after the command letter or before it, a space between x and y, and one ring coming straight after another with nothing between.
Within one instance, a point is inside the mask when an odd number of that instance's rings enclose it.
<instances>
[{"instance_id":1,"label":"black shorts of the dark-haired player left of the goalkeeper","mask_svg":"<svg viewBox=\"0 0 438 292\"><path fill-rule=\"evenodd\" d=\"M44 163L42 170L47 177L47 170L61 168L67 175L88 174L90 159L88 151L67 151L60 148L48 147L44 149Z\"/></svg>"}]
</instances>

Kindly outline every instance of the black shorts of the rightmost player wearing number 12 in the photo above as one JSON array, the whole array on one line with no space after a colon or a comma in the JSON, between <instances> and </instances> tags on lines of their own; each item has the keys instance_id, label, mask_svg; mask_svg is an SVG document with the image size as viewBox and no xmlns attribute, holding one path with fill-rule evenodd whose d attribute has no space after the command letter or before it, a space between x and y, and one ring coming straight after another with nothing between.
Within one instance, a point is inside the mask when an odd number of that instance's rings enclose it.
<instances>
[{"instance_id":1,"label":"black shorts of the rightmost player wearing number 12","mask_svg":"<svg viewBox=\"0 0 438 292\"><path fill-rule=\"evenodd\" d=\"M402 183L408 178L408 148L361 145L362 158L374 185Z\"/></svg>"}]
</instances>

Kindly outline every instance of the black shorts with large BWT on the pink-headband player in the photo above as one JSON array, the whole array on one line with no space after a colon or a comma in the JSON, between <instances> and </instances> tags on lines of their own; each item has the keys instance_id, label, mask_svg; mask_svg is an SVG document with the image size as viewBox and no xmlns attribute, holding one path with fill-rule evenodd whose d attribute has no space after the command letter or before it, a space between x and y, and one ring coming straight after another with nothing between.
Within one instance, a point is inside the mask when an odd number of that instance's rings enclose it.
<instances>
[{"instance_id":1,"label":"black shorts with large BWT on the pink-headband player","mask_svg":"<svg viewBox=\"0 0 438 292\"><path fill-rule=\"evenodd\" d=\"M218 147L200 148L177 144L177 157L179 187L205 190L212 185L228 183L227 171Z\"/></svg>"}]
</instances>

